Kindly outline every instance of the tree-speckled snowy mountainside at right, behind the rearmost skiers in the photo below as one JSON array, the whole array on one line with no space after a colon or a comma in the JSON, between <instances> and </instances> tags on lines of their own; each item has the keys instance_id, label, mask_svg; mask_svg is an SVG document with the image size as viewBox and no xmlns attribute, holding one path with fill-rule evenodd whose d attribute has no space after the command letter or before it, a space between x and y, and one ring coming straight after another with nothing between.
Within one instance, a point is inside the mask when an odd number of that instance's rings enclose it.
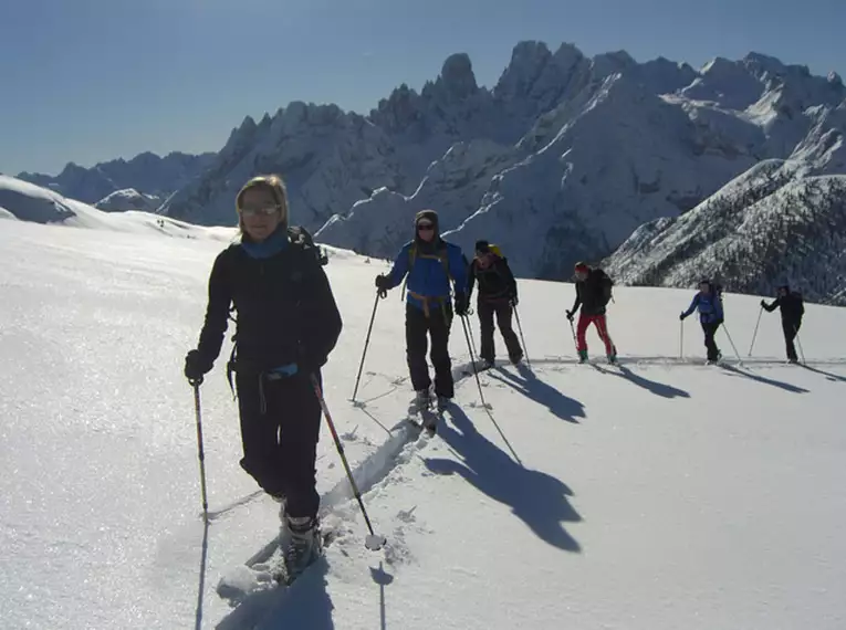
<instances>
[{"instance_id":1,"label":"tree-speckled snowy mountainside at right, behind the rearmost skiers","mask_svg":"<svg viewBox=\"0 0 846 630\"><path fill-rule=\"evenodd\" d=\"M717 277L731 291L846 305L846 176L801 177L761 162L678 219L640 227L604 267L635 285L692 286Z\"/></svg>"}]
</instances>

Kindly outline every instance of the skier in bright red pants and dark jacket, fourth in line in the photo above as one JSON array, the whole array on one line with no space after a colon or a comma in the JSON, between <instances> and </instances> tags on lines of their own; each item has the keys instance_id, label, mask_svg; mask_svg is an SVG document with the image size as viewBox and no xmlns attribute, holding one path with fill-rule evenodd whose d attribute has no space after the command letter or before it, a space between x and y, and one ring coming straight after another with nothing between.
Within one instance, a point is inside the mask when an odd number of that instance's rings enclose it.
<instances>
[{"instance_id":1,"label":"skier in bright red pants and dark jacket, fourth in line","mask_svg":"<svg viewBox=\"0 0 846 630\"><path fill-rule=\"evenodd\" d=\"M573 303L573 308L567 311L567 319L573 321L581 305L582 313L578 316L576 327L578 360L579 363L587 360L587 327L594 324L599 338L605 344L605 355L608 363L616 363L617 348L608 334L608 319L606 317L606 307L612 298L614 282L603 270L592 269L583 262L576 263L575 277L576 301Z\"/></svg>"}]
</instances>

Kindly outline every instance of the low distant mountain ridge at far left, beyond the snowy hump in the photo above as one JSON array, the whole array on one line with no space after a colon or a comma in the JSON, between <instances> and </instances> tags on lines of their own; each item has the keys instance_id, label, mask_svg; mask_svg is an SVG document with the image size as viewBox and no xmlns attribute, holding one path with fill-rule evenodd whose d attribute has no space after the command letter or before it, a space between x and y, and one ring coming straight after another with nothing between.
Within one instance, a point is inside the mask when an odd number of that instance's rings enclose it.
<instances>
[{"instance_id":1,"label":"low distant mountain ridge at far left, beyond the snowy hump","mask_svg":"<svg viewBox=\"0 0 846 630\"><path fill-rule=\"evenodd\" d=\"M171 153L163 158L144 153L128 161L116 159L92 168L70 162L55 177L36 172L21 172L17 177L85 203L96 203L113 192L130 188L164 199L202 172L213 156Z\"/></svg>"}]
</instances>

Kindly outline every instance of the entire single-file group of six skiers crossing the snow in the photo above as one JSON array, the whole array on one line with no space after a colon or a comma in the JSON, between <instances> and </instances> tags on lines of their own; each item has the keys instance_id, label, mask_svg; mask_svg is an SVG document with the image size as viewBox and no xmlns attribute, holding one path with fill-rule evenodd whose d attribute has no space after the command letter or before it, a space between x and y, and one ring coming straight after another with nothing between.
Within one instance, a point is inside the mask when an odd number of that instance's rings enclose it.
<instances>
[{"instance_id":1,"label":"entire single-file group of six skiers crossing the snow","mask_svg":"<svg viewBox=\"0 0 846 630\"><path fill-rule=\"evenodd\" d=\"M236 198L241 239L216 259L208 285L208 305L196 349L185 359L185 376L199 387L220 354L228 321L236 321L234 347L227 372L238 395L243 458L241 466L281 504L281 545L288 575L295 577L322 553L317 519L316 444L322 412L321 368L334 349L342 319L323 265L326 259L309 233L289 225L285 186L278 176L250 179ZM440 237L438 213L415 217L415 237L400 250L389 273L376 277L380 296L406 282L406 357L418 409L435 402L445 409L455 396L448 342L455 315L467 317L478 284L477 315L481 328L479 369L493 366L494 319L509 359L519 364L523 348L512 327L518 285L508 260L495 245L477 241L472 261ZM581 307L574 337L579 361L587 360L586 332L596 326L610 363L617 349L608 333L606 308L613 282L599 269L575 265L576 300L566 312L571 322ZM801 297L780 290L767 311L782 309L787 356L796 360L793 338L798 330ZM716 285L700 292L683 319L699 311L708 359L718 360L714 333L723 321ZM237 317L232 317L232 313ZM429 375L427 350L435 369Z\"/></svg>"}]
</instances>

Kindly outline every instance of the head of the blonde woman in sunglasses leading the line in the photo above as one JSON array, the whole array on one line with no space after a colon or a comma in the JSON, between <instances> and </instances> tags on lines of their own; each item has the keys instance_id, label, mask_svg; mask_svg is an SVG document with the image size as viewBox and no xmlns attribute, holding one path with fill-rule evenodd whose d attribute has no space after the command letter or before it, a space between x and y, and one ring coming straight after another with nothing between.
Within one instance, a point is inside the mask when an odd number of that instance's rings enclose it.
<instances>
[{"instance_id":1,"label":"head of the blonde woman in sunglasses leading the line","mask_svg":"<svg viewBox=\"0 0 846 630\"><path fill-rule=\"evenodd\" d=\"M236 197L242 238L261 242L280 225L288 227L288 192L278 175L253 177Z\"/></svg>"}]
</instances>

